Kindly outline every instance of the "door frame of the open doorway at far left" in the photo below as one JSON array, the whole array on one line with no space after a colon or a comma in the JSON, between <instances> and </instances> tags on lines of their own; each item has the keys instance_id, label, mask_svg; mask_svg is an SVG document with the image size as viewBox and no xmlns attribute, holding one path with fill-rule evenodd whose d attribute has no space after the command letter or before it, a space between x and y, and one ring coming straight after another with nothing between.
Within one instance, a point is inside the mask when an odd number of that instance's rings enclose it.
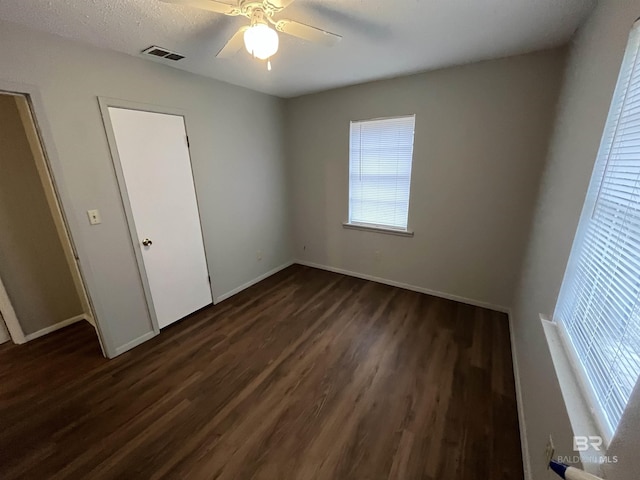
<instances>
[{"instance_id":1,"label":"door frame of the open doorway at far left","mask_svg":"<svg viewBox=\"0 0 640 480\"><path fill-rule=\"evenodd\" d=\"M110 353L108 338L99 324L95 306L89 293L88 284L91 282L91 272L87 266L80 264L80 257L84 255L84 250L74 241L71 233L74 227L77 228L78 222L72 211L65 208L65 205L72 205L72 202L64 182L60 181L60 161L45 115L40 90L34 85L0 79L0 94L21 99L16 102L18 112L33 154L47 205L80 298L83 317L95 328L102 354L108 356ZM12 341L16 344L28 341L1 280L0 306L3 309L4 322Z\"/></svg>"}]
</instances>

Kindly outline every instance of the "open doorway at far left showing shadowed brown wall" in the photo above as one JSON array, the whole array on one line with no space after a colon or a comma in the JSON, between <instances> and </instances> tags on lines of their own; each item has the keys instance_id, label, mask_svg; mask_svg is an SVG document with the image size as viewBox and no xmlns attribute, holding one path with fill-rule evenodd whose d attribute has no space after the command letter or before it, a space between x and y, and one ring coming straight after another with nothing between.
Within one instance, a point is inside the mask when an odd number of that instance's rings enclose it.
<instances>
[{"instance_id":1,"label":"open doorway at far left showing shadowed brown wall","mask_svg":"<svg viewBox=\"0 0 640 480\"><path fill-rule=\"evenodd\" d=\"M0 91L0 343L81 321L96 327L29 97Z\"/></svg>"}]
</instances>

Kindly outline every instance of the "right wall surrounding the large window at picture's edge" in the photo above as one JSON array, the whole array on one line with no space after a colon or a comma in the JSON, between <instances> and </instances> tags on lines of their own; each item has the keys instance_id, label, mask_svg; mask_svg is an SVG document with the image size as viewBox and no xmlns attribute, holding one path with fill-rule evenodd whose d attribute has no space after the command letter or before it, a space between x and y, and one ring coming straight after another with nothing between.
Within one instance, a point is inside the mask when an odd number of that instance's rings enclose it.
<instances>
[{"instance_id":1,"label":"right wall surrounding the large window at picture's edge","mask_svg":"<svg viewBox=\"0 0 640 480\"><path fill-rule=\"evenodd\" d=\"M631 25L640 1L600 2L571 46L533 230L512 315L526 439L535 480L548 478L542 452L552 434L573 455L571 425L540 324L553 313L580 218ZM640 386L622 418L607 468L611 480L640 478ZM580 434L580 433L578 433Z\"/></svg>"}]
</instances>

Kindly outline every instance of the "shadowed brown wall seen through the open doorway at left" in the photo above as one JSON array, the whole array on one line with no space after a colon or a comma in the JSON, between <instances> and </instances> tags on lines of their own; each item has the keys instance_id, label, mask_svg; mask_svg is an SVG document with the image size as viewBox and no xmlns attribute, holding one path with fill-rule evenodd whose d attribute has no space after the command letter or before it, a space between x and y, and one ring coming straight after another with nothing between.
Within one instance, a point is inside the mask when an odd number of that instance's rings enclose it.
<instances>
[{"instance_id":1,"label":"shadowed brown wall seen through the open doorway at left","mask_svg":"<svg viewBox=\"0 0 640 480\"><path fill-rule=\"evenodd\" d=\"M25 334L82 314L14 97L0 95L0 278Z\"/></svg>"}]
</instances>

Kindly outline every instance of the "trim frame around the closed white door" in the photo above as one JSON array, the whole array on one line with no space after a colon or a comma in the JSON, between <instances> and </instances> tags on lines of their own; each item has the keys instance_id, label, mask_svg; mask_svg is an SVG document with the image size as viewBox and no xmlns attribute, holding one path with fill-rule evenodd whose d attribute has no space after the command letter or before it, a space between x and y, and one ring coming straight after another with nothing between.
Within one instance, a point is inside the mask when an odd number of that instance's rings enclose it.
<instances>
[{"instance_id":1,"label":"trim frame around the closed white door","mask_svg":"<svg viewBox=\"0 0 640 480\"><path fill-rule=\"evenodd\" d=\"M113 125L111 123L111 116L109 115L109 107L123 108L126 110L137 110L141 112L159 113L164 115L174 115L182 117L184 121L184 129L187 137L189 137L189 124L187 121L187 112L181 108L167 107L164 105L153 105L148 103L134 102L130 100L123 100L120 98L111 97L98 97L98 104L100 105L100 113L102 115L102 122L104 123L105 133L107 135L107 142L109 144L109 151L111 152L111 160L113 169L118 182L118 190L120 191L120 198L122 200L122 208L124 209L125 217L127 219L127 225L129 227L129 237L131 240L131 248L136 258L136 264L138 266L138 273L140 275L140 282L144 290L144 296L147 304L147 310L151 317L151 323L153 325L153 331L160 333L160 327L158 325L158 318L156 310L153 305L153 297L151 296L151 288L149 286L149 278L147 276L147 270L144 266L144 258L142 256L142 250L139 248L140 239L138 238L138 231L136 229L136 223L133 216L133 210L131 208L131 202L129 200L129 193L127 192L127 183L125 181L124 172L122 170L122 162L118 153L118 147L116 143L115 133L113 131ZM200 222L200 234L202 236L202 248L204 250L205 265L211 279L211 270L209 268L209 260L207 255L207 244L204 241L204 229L202 228L202 216L200 215L200 202L198 198L198 188L196 186L195 178L193 176L193 158L191 154L191 148L189 150L189 166L191 167L191 180L193 182L193 189L196 195L196 210L198 212L198 221ZM211 291L211 298L213 301L213 282L209 281L209 290Z\"/></svg>"}]
</instances>

